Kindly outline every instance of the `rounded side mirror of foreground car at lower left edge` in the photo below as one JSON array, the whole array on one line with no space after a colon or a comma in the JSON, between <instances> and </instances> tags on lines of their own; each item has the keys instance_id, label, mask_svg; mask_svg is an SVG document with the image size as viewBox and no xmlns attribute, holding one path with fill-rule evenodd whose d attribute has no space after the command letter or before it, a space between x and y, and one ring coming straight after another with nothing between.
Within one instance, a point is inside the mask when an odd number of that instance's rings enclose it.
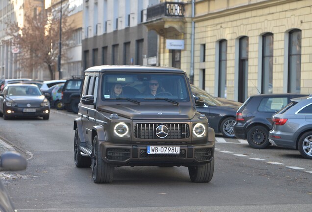
<instances>
[{"instance_id":1,"label":"rounded side mirror of foreground car at lower left edge","mask_svg":"<svg viewBox=\"0 0 312 212\"><path fill-rule=\"evenodd\" d=\"M27 160L19 153L5 152L1 155L1 171L21 171L27 168Z\"/></svg>"}]
</instances>

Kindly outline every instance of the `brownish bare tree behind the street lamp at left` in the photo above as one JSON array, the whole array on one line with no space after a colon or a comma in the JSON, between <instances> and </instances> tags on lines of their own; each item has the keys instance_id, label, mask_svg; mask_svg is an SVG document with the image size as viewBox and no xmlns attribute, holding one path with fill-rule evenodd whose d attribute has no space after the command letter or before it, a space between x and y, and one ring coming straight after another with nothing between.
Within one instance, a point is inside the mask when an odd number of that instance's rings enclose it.
<instances>
[{"instance_id":1,"label":"brownish bare tree behind the street lamp at left","mask_svg":"<svg viewBox=\"0 0 312 212\"><path fill-rule=\"evenodd\" d=\"M68 5L62 7L62 60L66 60L66 49L69 47L73 28L68 20ZM18 62L28 73L44 67L55 78L55 67L59 54L60 8L41 11L37 16L25 11L25 24L8 23L7 34L12 37L12 46L20 49Z\"/></svg>"}]
</instances>

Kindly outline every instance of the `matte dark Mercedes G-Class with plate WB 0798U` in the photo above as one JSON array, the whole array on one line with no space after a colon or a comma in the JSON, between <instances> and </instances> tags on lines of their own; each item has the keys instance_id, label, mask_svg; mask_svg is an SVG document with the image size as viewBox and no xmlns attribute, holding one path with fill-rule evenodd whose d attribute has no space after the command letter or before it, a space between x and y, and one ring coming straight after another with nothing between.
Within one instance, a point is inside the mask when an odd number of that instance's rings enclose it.
<instances>
[{"instance_id":1,"label":"matte dark Mercedes G-Class with plate WB 0798U","mask_svg":"<svg viewBox=\"0 0 312 212\"><path fill-rule=\"evenodd\" d=\"M119 166L186 166L193 182L214 172L214 131L187 75L176 68L96 66L85 71L74 120L74 160L95 183Z\"/></svg>"}]
</instances>

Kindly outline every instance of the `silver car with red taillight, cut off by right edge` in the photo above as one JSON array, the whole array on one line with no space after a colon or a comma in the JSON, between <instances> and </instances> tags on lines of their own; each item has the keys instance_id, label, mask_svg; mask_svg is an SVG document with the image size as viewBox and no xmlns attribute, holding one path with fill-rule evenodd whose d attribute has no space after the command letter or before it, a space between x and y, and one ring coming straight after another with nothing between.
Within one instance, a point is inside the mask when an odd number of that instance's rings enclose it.
<instances>
[{"instance_id":1,"label":"silver car with red taillight, cut off by right edge","mask_svg":"<svg viewBox=\"0 0 312 212\"><path fill-rule=\"evenodd\" d=\"M292 99L272 116L269 141L275 146L298 149L312 159L312 96Z\"/></svg>"}]
</instances>

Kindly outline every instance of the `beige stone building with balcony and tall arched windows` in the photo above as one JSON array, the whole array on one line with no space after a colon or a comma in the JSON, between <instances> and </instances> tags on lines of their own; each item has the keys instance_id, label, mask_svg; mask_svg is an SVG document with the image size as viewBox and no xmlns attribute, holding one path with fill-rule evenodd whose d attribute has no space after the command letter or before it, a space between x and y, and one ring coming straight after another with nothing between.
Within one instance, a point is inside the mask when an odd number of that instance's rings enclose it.
<instances>
[{"instance_id":1,"label":"beige stone building with balcony and tall arched windows","mask_svg":"<svg viewBox=\"0 0 312 212\"><path fill-rule=\"evenodd\" d=\"M241 102L259 92L312 93L311 0L184 2L183 17L146 23L160 35L159 65L174 66L179 52L195 85ZM183 40L184 49L168 49L168 39Z\"/></svg>"}]
</instances>

